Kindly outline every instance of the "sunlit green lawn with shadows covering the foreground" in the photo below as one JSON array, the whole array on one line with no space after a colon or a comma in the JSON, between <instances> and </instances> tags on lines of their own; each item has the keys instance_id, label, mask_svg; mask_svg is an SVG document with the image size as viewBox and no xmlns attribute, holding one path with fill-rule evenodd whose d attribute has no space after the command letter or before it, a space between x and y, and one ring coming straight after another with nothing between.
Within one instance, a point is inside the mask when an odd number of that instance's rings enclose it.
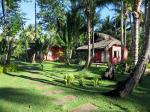
<instances>
[{"instance_id":1,"label":"sunlit green lawn with shadows covering the foreground","mask_svg":"<svg viewBox=\"0 0 150 112\"><path fill-rule=\"evenodd\" d=\"M128 98L116 99L100 94L114 88L115 82L101 80L97 87L93 87L91 79L102 75L102 67L79 71L81 66L44 62L44 71L41 71L38 64L18 64L21 71L0 75L0 112L68 112L87 103L94 105L96 112L150 111L150 76L144 76L143 82ZM65 86L66 74L84 75L86 85L79 86L76 79L73 86ZM126 76L117 79L123 77ZM53 91L56 93L52 94ZM57 104L69 95L75 99Z\"/></svg>"}]
</instances>

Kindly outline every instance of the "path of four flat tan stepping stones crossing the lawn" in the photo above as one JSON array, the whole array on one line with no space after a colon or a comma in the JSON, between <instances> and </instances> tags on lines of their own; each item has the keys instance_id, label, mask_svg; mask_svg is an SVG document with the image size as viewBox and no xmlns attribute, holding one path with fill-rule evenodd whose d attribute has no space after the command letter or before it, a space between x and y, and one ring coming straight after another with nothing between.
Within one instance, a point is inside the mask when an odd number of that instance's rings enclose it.
<instances>
[{"instance_id":1,"label":"path of four flat tan stepping stones crossing the lawn","mask_svg":"<svg viewBox=\"0 0 150 112\"><path fill-rule=\"evenodd\" d=\"M48 89L48 87L51 87L53 85L49 85L49 84L44 84L42 82L36 82L36 81L31 81L32 84L35 84L36 85L36 89L38 90L45 90L45 89ZM49 90L49 91L46 91L43 93L43 95L45 96L52 96L52 95L55 95L55 94L62 94L64 93L64 90ZM56 100L53 101L53 103L55 105L58 105L58 106L64 106L65 104L73 101L73 100L76 100L77 97L74 96L74 95L68 95L68 96L64 96L64 97L61 97L61 98L58 98ZM91 103L86 103L86 104L83 104L83 105L80 105L76 108L74 108L73 110L69 111L69 112L93 112L97 109L97 107Z\"/></svg>"}]
</instances>

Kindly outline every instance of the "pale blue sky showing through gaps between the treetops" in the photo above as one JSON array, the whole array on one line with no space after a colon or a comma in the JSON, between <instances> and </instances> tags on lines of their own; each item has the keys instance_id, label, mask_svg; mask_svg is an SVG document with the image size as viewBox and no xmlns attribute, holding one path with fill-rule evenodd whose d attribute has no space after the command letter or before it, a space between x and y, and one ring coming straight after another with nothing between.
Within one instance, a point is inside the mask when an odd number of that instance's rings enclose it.
<instances>
[{"instance_id":1,"label":"pale blue sky showing through gaps between the treetops","mask_svg":"<svg viewBox=\"0 0 150 112\"><path fill-rule=\"evenodd\" d=\"M26 26L29 24L34 24L35 16L34 16L34 0L31 0L30 2L22 2L21 3L21 10L23 13L26 14L25 18L29 19L26 22ZM37 8L37 12L39 9ZM106 18L107 16L112 17L114 12L110 11L107 7L104 7L100 11L101 19Z\"/></svg>"}]
</instances>

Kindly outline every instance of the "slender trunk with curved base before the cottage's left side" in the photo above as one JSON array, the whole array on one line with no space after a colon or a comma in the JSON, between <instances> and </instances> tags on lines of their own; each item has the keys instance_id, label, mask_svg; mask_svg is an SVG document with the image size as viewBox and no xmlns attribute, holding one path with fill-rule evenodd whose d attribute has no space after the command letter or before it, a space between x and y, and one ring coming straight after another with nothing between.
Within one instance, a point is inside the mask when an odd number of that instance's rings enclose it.
<instances>
[{"instance_id":1,"label":"slender trunk with curved base before the cottage's left side","mask_svg":"<svg viewBox=\"0 0 150 112\"><path fill-rule=\"evenodd\" d=\"M85 69L89 67L91 61L91 20L89 15L87 16L87 22L88 22L88 57L84 67Z\"/></svg>"}]
</instances>

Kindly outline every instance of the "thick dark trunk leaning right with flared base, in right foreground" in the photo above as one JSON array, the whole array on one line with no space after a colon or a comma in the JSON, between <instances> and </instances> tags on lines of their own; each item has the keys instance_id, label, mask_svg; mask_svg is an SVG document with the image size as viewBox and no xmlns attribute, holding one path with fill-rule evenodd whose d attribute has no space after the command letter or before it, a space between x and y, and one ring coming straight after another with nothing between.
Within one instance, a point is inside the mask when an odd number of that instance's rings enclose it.
<instances>
[{"instance_id":1,"label":"thick dark trunk leaning right with flared base, in right foreground","mask_svg":"<svg viewBox=\"0 0 150 112\"><path fill-rule=\"evenodd\" d=\"M114 96L114 97L128 96L138 84L141 76L144 74L145 66L148 63L149 58L150 58L150 2L148 3L145 45L143 48L143 53L141 55L141 58L127 80L119 84L119 86L115 90L112 90L104 94L109 96Z\"/></svg>"}]
</instances>

